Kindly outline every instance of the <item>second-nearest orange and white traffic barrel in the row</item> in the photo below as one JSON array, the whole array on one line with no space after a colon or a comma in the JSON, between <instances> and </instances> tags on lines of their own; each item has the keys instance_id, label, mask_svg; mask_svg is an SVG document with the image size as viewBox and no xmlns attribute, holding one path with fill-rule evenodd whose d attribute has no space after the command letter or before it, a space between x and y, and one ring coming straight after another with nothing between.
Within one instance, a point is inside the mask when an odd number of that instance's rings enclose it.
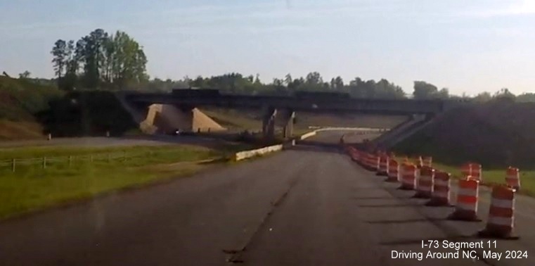
<instances>
[{"instance_id":1,"label":"second-nearest orange and white traffic barrel in the row","mask_svg":"<svg viewBox=\"0 0 535 266\"><path fill-rule=\"evenodd\" d=\"M477 218L477 202L479 196L479 181L468 176L466 179L460 179L458 182L456 208L451 215L450 220L463 220L479 222Z\"/></svg>"}]
</instances>

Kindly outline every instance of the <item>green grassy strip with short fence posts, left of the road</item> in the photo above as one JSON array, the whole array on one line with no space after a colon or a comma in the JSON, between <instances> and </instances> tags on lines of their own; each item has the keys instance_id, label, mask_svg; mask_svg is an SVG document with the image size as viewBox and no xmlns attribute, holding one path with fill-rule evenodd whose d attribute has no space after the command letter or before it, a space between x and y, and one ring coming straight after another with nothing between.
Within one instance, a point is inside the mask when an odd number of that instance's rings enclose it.
<instances>
[{"instance_id":1,"label":"green grassy strip with short fence posts, left of the road","mask_svg":"<svg viewBox=\"0 0 535 266\"><path fill-rule=\"evenodd\" d=\"M238 148L242 147L231 146L223 152L193 146L2 149L0 161L17 158L18 163L15 172L9 160L0 166L0 218L191 175L205 166L199 160L220 158ZM46 168L40 159L32 163L22 160L42 156L48 158ZM68 156L72 156L70 164Z\"/></svg>"}]
</instances>

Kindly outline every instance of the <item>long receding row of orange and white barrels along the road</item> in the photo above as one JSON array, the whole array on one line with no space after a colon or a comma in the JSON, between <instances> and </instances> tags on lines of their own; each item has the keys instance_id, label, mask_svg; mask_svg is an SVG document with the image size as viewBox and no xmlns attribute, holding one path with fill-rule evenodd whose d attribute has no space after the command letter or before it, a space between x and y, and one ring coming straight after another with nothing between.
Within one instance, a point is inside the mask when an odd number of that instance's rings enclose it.
<instances>
[{"instance_id":1,"label":"long receding row of orange and white barrels along the road","mask_svg":"<svg viewBox=\"0 0 535 266\"><path fill-rule=\"evenodd\" d=\"M347 153L356 163L367 170L386 176L385 182L399 183L399 189L415 191L415 198L427 198L428 206L453 206L451 204L451 174L432 167L432 157L418 157L416 163L405 157L398 162L394 153L378 151L368 153L347 146ZM458 193L450 220L481 221L477 217L479 185L482 182L482 165L466 163L460 167L463 177L458 179ZM505 184L493 186L491 206L486 227L480 236L517 239L513 236L515 192L520 189L520 171L508 167Z\"/></svg>"}]
</instances>

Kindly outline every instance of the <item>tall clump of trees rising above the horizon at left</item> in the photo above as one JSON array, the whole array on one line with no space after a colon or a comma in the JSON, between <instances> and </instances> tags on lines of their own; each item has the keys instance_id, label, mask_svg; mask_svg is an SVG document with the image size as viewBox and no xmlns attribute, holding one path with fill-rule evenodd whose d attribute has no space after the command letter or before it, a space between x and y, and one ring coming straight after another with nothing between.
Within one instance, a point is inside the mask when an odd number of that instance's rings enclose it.
<instances>
[{"instance_id":1,"label":"tall clump of trees rising above the horizon at left","mask_svg":"<svg viewBox=\"0 0 535 266\"><path fill-rule=\"evenodd\" d=\"M77 42L58 39L51 54L60 89L120 89L148 80L143 47L126 32L96 29Z\"/></svg>"}]
</instances>

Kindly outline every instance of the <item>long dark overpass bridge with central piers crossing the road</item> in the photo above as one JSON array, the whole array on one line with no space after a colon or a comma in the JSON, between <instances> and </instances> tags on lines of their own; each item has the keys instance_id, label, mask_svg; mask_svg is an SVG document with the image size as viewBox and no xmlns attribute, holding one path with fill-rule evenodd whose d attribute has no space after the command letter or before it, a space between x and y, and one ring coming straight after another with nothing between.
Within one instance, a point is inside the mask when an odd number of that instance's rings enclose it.
<instances>
[{"instance_id":1,"label":"long dark overpass bridge with central piers crossing the road","mask_svg":"<svg viewBox=\"0 0 535 266\"><path fill-rule=\"evenodd\" d=\"M415 99L352 99L349 94L333 92L300 92L292 96L250 96L221 94L217 89L174 89L172 93L123 92L124 100L136 106L153 103L179 107L187 115L196 107L257 108L263 110L264 137L274 135L275 119L283 117L283 137L291 137L295 112L311 113L366 113L380 115L425 115L441 113L458 101Z\"/></svg>"}]
</instances>

